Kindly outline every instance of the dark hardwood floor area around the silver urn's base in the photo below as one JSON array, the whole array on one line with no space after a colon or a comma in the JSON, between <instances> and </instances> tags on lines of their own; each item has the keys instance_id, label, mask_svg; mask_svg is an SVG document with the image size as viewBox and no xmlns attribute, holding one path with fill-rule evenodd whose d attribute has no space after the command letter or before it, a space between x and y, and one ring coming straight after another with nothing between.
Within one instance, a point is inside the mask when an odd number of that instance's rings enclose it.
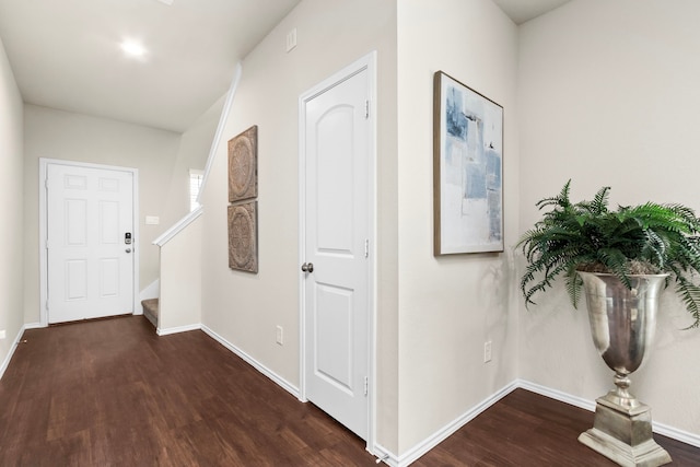
<instances>
[{"instance_id":1,"label":"dark hardwood floor area around the silver urn's base","mask_svg":"<svg viewBox=\"0 0 700 467\"><path fill-rule=\"evenodd\" d=\"M617 464L579 443L593 427L593 412L515 389L413 466L608 467ZM674 462L700 466L700 448L654 434Z\"/></svg>"}]
</instances>

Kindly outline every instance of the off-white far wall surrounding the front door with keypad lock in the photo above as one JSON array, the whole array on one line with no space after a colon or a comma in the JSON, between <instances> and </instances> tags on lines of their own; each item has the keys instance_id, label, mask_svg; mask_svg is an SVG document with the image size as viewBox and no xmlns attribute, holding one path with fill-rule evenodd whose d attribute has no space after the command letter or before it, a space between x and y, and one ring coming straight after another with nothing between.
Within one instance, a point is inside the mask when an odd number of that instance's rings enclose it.
<instances>
[{"instance_id":1,"label":"off-white far wall surrounding the front door with keypad lock","mask_svg":"<svg viewBox=\"0 0 700 467\"><path fill-rule=\"evenodd\" d=\"M56 110L35 105L24 107L24 319L39 322L38 260L38 160L61 159L139 170L141 289L159 277L159 252L151 242L177 218L164 211L180 135L105 118ZM184 188L187 189L186 187ZM145 215L161 217L160 225L145 225Z\"/></svg>"}]
</instances>

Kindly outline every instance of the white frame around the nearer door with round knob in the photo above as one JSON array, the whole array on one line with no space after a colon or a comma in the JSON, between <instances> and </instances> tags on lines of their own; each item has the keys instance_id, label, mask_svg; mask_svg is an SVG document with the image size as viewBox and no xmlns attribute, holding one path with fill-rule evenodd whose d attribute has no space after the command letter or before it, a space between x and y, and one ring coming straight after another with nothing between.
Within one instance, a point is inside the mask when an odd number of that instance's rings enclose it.
<instances>
[{"instance_id":1,"label":"white frame around the nearer door with round knob","mask_svg":"<svg viewBox=\"0 0 700 467\"><path fill-rule=\"evenodd\" d=\"M306 257L306 118L304 107L308 101L323 94L335 85L354 77L355 74L368 71L369 87L369 174L370 180L368 189L368 236L369 236L369 266L368 266L368 439L366 447L370 452L374 452L376 443L376 51L372 51L364 57L358 59L342 70L334 73L331 77L314 85L299 97L299 265L305 261ZM308 401L306 398L306 289L304 275L299 275L299 329L300 329L300 400Z\"/></svg>"}]
</instances>

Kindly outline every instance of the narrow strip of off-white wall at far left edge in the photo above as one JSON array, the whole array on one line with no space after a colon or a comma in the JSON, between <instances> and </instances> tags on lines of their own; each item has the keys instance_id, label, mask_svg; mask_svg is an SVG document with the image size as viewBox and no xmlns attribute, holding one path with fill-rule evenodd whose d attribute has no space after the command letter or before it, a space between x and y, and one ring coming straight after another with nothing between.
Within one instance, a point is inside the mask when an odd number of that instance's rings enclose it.
<instances>
[{"instance_id":1,"label":"narrow strip of off-white wall at far left edge","mask_svg":"<svg viewBox=\"0 0 700 467\"><path fill-rule=\"evenodd\" d=\"M12 69L0 40L0 198L3 200L0 229L0 375L24 324L22 273L23 207L23 106Z\"/></svg>"}]
</instances>

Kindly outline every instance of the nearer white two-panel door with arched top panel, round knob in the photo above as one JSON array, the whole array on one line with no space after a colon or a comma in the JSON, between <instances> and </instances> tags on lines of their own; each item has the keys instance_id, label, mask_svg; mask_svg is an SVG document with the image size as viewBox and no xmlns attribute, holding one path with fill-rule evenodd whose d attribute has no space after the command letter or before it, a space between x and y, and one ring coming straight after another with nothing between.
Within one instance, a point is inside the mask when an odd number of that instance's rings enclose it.
<instances>
[{"instance_id":1,"label":"nearer white two-panel door with arched top panel, round knob","mask_svg":"<svg viewBox=\"0 0 700 467\"><path fill-rule=\"evenodd\" d=\"M301 101L304 395L364 440L373 212L370 75L366 67L353 71Z\"/></svg>"}]
</instances>

